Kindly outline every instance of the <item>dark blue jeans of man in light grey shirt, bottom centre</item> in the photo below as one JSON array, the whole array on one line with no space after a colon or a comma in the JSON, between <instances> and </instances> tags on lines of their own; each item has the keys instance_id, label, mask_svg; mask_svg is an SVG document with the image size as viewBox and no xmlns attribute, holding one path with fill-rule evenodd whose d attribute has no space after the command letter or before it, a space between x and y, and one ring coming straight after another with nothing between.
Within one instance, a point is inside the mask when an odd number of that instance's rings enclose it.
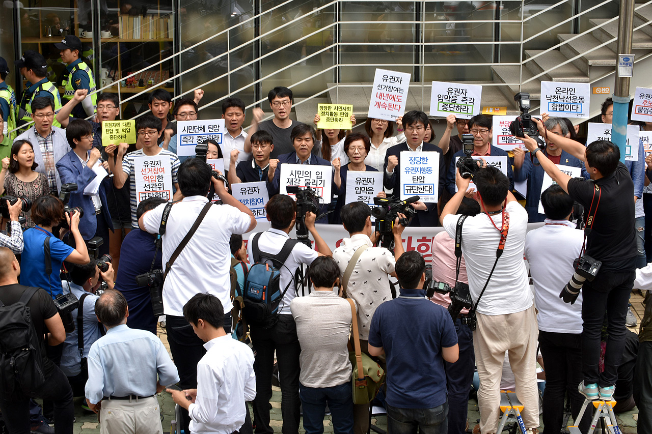
<instances>
[{"instance_id":1,"label":"dark blue jeans of man in light grey shirt, bottom centre","mask_svg":"<svg viewBox=\"0 0 652 434\"><path fill-rule=\"evenodd\" d=\"M306 387L299 384L299 397L303 404L303 429L306 434L324 432L326 405L331 409L333 432L353 434L353 396L351 382L339 386Z\"/></svg>"}]
</instances>

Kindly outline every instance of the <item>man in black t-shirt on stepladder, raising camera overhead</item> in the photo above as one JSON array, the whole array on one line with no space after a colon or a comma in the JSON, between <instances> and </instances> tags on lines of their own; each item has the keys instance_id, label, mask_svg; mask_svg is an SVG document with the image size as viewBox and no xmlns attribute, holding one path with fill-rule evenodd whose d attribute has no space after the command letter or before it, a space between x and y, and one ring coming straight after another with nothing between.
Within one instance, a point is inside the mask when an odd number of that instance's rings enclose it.
<instances>
[{"instance_id":1,"label":"man in black t-shirt on stepladder, raising camera overhead","mask_svg":"<svg viewBox=\"0 0 652 434\"><path fill-rule=\"evenodd\" d=\"M545 138L552 134L535 120ZM614 143L597 140L584 147L572 139L554 136L564 151L582 160L591 181L571 179L545 156L537 142L526 136L523 141L541 167L571 197L584 205L585 220L592 210L594 218L587 222L591 229L586 237L584 256L602 262L593 279L584 282L582 301L582 374L579 390L587 399L611 400L617 369L625 349L625 315L636 268L636 235L634 232L634 182L625 164L619 162L620 151ZM569 293L567 293L569 294ZM559 296L561 297L561 295ZM565 297L566 299L566 297ZM607 306L609 308L607 309ZM600 332L604 316L608 320L604 371L599 372Z\"/></svg>"}]
</instances>

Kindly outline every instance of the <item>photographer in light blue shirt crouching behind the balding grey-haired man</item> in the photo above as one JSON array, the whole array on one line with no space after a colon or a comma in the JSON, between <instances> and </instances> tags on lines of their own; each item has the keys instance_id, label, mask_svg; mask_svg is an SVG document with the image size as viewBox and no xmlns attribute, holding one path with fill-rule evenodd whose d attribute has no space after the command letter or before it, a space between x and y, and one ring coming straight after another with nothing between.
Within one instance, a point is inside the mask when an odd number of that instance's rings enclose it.
<instances>
[{"instance_id":1,"label":"photographer in light blue shirt crouching behind the balding grey-haired man","mask_svg":"<svg viewBox=\"0 0 652 434\"><path fill-rule=\"evenodd\" d=\"M104 334L104 327L95 315L95 302L99 298L95 291L100 287L100 278L104 279L109 289L113 289L113 267L108 263L108 270L102 272L95 259L85 265L70 264L68 267L70 281L64 286L66 292L74 294L80 300L82 316L79 316L79 308L72 311L76 327L66 335L63 343L61 370L68 377L73 396L84 396L84 386L88 380L86 358L93 342ZM80 334L82 340L79 339Z\"/></svg>"}]
</instances>

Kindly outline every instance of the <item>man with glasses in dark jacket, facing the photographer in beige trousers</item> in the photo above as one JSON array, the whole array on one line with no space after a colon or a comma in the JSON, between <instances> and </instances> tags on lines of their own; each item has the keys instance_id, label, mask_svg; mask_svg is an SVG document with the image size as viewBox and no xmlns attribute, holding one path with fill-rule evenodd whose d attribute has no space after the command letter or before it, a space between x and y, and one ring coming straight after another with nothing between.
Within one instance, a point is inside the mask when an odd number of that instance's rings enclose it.
<instances>
[{"instance_id":1,"label":"man with glasses in dark jacket, facing the photographer in beige trousers","mask_svg":"<svg viewBox=\"0 0 652 434\"><path fill-rule=\"evenodd\" d=\"M506 151L495 147L491 144L492 123L491 119L485 115L475 115L469 119L469 134L473 136L473 154L471 156L506 156L507 157L507 177L509 178L509 191L514 190L514 175L512 173L512 164L514 158L511 158ZM455 194L455 162L457 157L464 156L464 149L460 149L453 154L448 167L446 177L446 190L449 194Z\"/></svg>"}]
</instances>

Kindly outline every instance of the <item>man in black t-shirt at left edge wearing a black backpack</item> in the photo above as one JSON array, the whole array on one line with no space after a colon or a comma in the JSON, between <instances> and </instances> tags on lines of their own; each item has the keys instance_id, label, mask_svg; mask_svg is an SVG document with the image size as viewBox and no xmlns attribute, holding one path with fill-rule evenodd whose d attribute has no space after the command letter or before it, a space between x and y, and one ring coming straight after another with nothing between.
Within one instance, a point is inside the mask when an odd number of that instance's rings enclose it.
<instances>
[{"instance_id":1,"label":"man in black t-shirt at left edge wearing a black backpack","mask_svg":"<svg viewBox=\"0 0 652 434\"><path fill-rule=\"evenodd\" d=\"M0 248L0 301L9 306L20 300L26 286L18 284L20 265L14 253L6 247ZM29 433L29 398L43 398L54 401L57 415L57 433L72 434L74 405L72 390L66 375L46 356L45 340L48 345L59 345L66 338L61 317L52 301L52 297L43 289L27 303L31 313L32 324L37 336L43 336L40 353L43 357L45 383L34 396L17 394L0 394L0 411L9 433Z\"/></svg>"}]
</instances>

